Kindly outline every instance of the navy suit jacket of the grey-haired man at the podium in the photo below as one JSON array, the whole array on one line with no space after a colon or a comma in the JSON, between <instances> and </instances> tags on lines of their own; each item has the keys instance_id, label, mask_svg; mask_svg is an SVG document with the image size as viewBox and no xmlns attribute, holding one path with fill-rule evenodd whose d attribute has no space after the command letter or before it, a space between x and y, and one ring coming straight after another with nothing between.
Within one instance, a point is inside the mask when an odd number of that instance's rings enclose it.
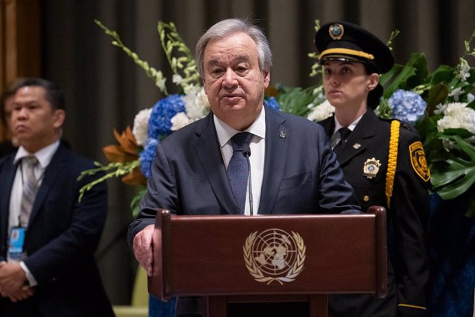
<instances>
[{"instance_id":1,"label":"navy suit jacket of the grey-haired man at the podium","mask_svg":"<svg viewBox=\"0 0 475 317\"><path fill-rule=\"evenodd\" d=\"M359 212L320 125L266 111L266 152L259 214ZM213 114L173 132L156 148L152 177L129 227L129 243L153 224L158 207L176 214L236 214ZM296 316L296 315L295 315Z\"/></svg>"}]
</instances>

